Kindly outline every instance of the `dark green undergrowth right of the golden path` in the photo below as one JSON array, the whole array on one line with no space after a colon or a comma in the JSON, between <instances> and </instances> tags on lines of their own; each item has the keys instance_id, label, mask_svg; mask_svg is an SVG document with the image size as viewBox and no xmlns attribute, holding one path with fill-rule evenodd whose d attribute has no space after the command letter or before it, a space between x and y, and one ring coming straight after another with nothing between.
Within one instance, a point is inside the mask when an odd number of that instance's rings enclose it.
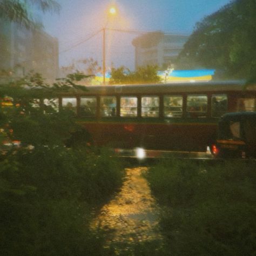
<instances>
[{"instance_id":1,"label":"dark green undergrowth right of the golden path","mask_svg":"<svg viewBox=\"0 0 256 256\"><path fill-rule=\"evenodd\" d=\"M147 176L171 255L254 255L255 164L172 160Z\"/></svg>"}]
</instances>

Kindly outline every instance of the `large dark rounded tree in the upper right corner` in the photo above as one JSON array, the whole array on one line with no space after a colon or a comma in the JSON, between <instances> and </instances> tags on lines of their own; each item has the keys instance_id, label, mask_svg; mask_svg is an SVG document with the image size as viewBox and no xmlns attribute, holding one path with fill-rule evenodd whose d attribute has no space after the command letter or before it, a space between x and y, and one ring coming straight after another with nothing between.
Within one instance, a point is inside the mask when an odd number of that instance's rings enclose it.
<instances>
[{"instance_id":1,"label":"large dark rounded tree in the upper right corner","mask_svg":"<svg viewBox=\"0 0 256 256\"><path fill-rule=\"evenodd\" d=\"M233 0L197 23L180 53L184 58L226 77L255 77L256 1Z\"/></svg>"}]
</instances>

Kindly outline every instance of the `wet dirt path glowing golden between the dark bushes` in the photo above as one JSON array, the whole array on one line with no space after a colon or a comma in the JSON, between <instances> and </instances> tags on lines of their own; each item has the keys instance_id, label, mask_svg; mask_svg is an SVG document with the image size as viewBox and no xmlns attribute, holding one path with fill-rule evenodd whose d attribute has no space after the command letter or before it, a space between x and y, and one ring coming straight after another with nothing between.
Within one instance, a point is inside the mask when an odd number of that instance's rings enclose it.
<instances>
[{"instance_id":1,"label":"wet dirt path glowing golden between the dark bushes","mask_svg":"<svg viewBox=\"0 0 256 256\"><path fill-rule=\"evenodd\" d=\"M161 239L158 231L158 207L142 173L146 167L126 169L126 179L117 196L105 205L92 227L109 233L107 244ZM107 245L106 245L107 246Z\"/></svg>"}]
</instances>

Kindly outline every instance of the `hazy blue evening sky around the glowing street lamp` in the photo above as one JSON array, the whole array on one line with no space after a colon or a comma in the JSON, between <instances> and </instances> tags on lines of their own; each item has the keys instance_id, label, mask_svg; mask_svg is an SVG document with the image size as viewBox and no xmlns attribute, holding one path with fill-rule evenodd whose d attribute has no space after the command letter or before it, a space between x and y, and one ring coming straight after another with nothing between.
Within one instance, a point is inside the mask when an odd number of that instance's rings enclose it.
<instances>
[{"instance_id":1,"label":"hazy blue evening sky around the glowing street lamp","mask_svg":"<svg viewBox=\"0 0 256 256\"><path fill-rule=\"evenodd\" d=\"M106 32L106 65L134 68L132 39L156 31L189 35L195 24L230 0L59 0L59 14L43 15L45 31L59 40L59 64L92 57L102 65L103 27L125 30ZM116 5L117 15L107 16ZM98 33L97 33L98 32ZM96 35L95 35L96 34ZM95 36L93 36L95 35ZM92 37L91 39L89 39ZM75 46L77 45L77 46Z\"/></svg>"}]
</instances>

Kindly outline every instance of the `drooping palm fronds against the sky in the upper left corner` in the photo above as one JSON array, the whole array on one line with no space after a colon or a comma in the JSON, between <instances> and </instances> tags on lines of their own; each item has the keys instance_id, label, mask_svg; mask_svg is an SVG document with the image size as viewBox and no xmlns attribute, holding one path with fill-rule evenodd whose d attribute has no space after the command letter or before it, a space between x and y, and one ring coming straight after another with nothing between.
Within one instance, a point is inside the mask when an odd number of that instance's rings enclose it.
<instances>
[{"instance_id":1,"label":"drooping palm fronds against the sky in the upper left corner","mask_svg":"<svg viewBox=\"0 0 256 256\"><path fill-rule=\"evenodd\" d=\"M29 13L29 9L35 6L43 12L59 11L60 5L55 0L0 0L0 18L5 21L17 22L27 29L35 29L42 26L36 22Z\"/></svg>"}]
</instances>

